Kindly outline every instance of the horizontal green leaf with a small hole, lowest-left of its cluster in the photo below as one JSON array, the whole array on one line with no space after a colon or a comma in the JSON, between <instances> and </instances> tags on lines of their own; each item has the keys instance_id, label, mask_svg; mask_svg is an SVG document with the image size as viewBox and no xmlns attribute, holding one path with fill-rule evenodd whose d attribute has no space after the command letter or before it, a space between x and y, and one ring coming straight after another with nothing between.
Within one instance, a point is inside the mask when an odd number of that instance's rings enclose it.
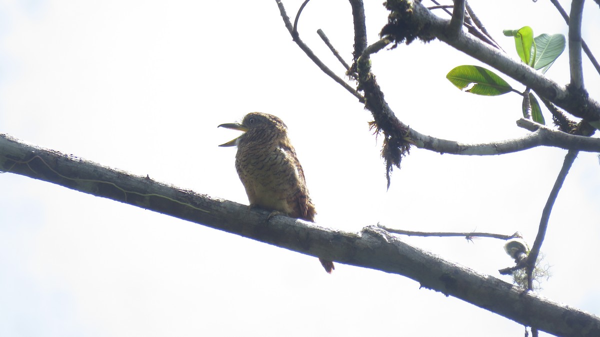
<instances>
[{"instance_id":1,"label":"horizontal green leaf with a small hole, lowest-left of its cluster","mask_svg":"<svg viewBox=\"0 0 600 337\"><path fill-rule=\"evenodd\" d=\"M512 91L512 87L500 76L476 65L459 65L446 75L446 79L461 90L474 84L466 92L476 95L497 96Z\"/></svg>"}]
</instances>

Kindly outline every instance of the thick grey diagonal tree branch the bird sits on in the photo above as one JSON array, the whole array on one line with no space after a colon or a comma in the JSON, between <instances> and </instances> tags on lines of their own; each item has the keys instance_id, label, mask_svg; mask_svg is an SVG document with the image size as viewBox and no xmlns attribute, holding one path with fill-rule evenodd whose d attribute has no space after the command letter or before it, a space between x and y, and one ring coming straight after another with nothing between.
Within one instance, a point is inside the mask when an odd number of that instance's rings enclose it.
<instances>
[{"instance_id":1,"label":"thick grey diagonal tree branch the bird sits on","mask_svg":"<svg viewBox=\"0 0 600 337\"><path fill-rule=\"evenodd\" d=\"M353 266L407 276L421 287L557 336L598 336L600 318L512 284L482 275L407 245L370 226L360 233L272 216L232 201L185 191L149 177L100 166L0 135L0 170L56 183L99 197L154 210L281 248ZM6 173L5 173L6 174Z\"/></svg>"}]
</instances>

